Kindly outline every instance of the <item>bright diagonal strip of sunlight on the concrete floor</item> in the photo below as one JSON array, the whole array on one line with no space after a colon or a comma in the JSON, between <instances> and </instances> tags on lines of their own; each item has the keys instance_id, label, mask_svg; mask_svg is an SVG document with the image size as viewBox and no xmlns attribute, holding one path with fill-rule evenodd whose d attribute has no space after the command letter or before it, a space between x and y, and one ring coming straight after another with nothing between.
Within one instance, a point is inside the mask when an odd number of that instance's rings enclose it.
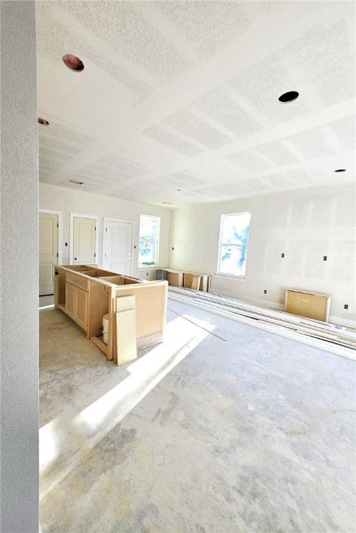
<instances>
[{"instance_id":1,"label":"bright diagonal strip of sunlight on the concrete floor","mask_svg":"<svg viewBox=\"0 0 356 533\"><path fill-rule=\"evenodd\" d=\"M204 330L183 317L169 322L162 344L130 364L128 378L77 416L58 416L40 429L40 499L214 329L199 323Z\"/></svg>"}]
</instances>

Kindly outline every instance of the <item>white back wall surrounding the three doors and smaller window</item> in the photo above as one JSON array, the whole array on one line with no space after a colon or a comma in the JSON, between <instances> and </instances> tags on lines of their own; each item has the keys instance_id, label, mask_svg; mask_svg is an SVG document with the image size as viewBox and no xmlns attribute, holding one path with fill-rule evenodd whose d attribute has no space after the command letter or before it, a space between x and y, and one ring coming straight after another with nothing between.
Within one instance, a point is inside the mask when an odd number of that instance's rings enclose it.
<instances>
[{"instance_id":1,"label":"white back wall surrounding the three doors and smaller window","mask_svg":"<svg viewBox=\"0 0 356 533\"><path fill-rule=\"evenodd\" d=\"M90 192L57 187L40 183L40 209L62 212L62 264L69 264L69 213L90 214L100 217L99 220L99 257L102 265L103 252L103 217L122 219L134 222L133 245L133 276L145 280L155 279L155 269L167 267L169 255L169 230L171 211L145 203L119 200L110 196L100 196ZM154 269L137 269L139 244L139 215L151 214L160 217L160 248L159 263ZM68 246L65 246L67 242ZM146 276L149 273L149 276Z\"/></svg>"}]
</instances>

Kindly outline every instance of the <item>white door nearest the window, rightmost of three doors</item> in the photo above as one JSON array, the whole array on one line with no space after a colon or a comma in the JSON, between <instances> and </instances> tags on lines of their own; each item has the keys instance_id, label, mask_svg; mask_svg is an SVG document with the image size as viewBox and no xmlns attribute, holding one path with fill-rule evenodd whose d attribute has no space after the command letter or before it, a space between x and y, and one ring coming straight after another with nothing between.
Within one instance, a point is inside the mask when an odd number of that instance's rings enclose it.
<instances>
[{"instance_id":1,"label":"white door nearest the window, rightmost of three doors","mask_svg":"<svg viewBox=\"0 0 356 533\"><path fill-rule=\"evenodd\" d=\"M104 220L103 268L131 275L133 223Z\"/></svg>"}]
</instances>

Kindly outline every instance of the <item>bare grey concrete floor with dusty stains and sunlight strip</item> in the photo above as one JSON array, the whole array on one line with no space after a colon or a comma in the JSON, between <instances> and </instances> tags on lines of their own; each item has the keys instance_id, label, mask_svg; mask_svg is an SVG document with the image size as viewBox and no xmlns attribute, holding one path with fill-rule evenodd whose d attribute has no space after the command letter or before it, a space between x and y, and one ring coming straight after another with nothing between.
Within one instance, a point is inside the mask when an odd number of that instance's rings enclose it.
<instances>
[{"instance_id":1,"label":"bare grey concrete floor with dusty stains and sunlight strip","mask_svg":"<svg viewBox=\"0 0 356 533\"><path fill-rule=\"evenodd\" d=\"M355 362L169 309L121 367L40 311L42 533L355 532Z\"/></svg>"}]
</instances>

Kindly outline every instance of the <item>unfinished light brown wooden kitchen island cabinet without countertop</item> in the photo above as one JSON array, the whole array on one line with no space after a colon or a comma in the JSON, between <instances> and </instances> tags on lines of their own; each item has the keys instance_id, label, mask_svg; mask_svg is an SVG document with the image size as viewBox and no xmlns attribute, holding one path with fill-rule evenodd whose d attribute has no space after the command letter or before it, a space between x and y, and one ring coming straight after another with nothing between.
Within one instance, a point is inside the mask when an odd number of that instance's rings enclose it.
<instances>
[{"instance_id":1,"label":"unfinished light brown wooden kitchen island cabinet without countertop","mask_svg":"<svg viewBox=\"0 0 356 533\"><path fill-rule=\"evenodd\" d=\"M128 330L124 314L135 330L136 348L162 341L166 323L167 281L146 281L99 269L96 265L61 265L55 268L55 308L65 312L108 359L126 362L119 335ZM132 310L122 310L124 297L134 296ZM103 316L108 314L108 344L103 342ZM118 316L119 315L119 316ZM126 316L125 315L125 316ZM119 328L119 332L118 332Z\"/></svg>"}]
</instances>

